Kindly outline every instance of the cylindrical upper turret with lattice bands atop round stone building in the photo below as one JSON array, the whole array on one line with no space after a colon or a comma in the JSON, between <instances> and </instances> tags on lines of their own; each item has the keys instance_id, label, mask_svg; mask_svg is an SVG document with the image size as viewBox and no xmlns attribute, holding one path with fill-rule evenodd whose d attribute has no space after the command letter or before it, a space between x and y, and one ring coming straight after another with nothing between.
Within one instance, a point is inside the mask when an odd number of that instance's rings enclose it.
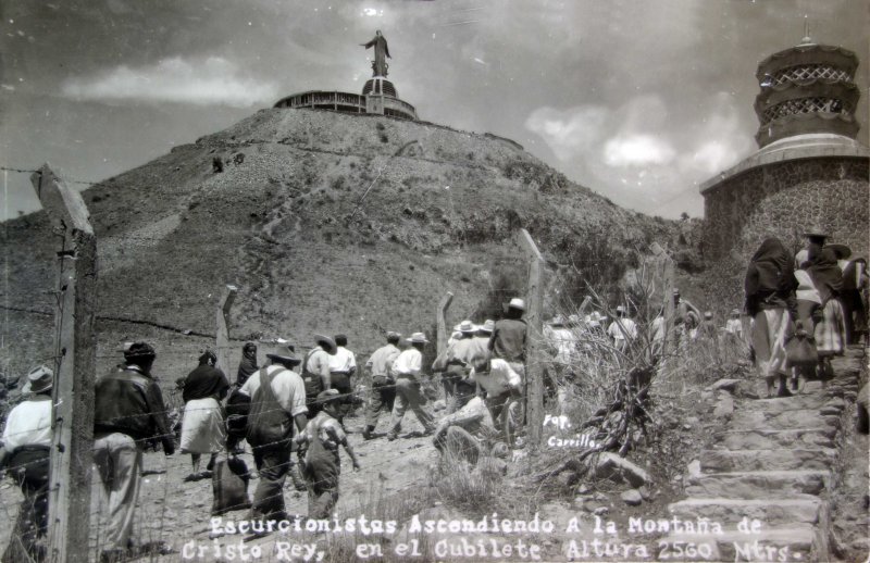
<instances>
[{"instance_id":1,"label":"cylindrical upper turret with lattice bands atop round stone building","mask_svg":"<svg viewBox=\"0 0 870 563\"><path fill-rule=\"evenodd\" d=\"M758 146L813 133L857 137L857 67L854 52L809 37L761 61L756 72L761 91L755 100Z\"/></svg>"}]
</instances>

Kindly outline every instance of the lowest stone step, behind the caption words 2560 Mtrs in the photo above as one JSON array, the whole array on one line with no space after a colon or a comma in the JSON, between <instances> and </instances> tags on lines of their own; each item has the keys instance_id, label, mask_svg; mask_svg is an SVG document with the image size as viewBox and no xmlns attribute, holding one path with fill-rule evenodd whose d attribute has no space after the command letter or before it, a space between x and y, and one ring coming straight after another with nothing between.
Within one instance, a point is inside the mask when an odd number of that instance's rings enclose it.
<instances>
[{"instance_id":1,"label":"lowest stone step, behind the caption words 2560 Mtrs","mask_svg":"<svg viewBox=\"0 0 870 563\"><path fill-rule=\"evenodd\" d=\"M813 525L798 524L787 528L762 528L759 534L731 530L721 535L671 535L662 541L669 547L667 559L676 561L811 561L810 554L817 543L815 536ZM675 556L675 548L681 546L685 551L688 543L694 545L698 554L694 558ZM705 556L708 548L700 546L709 548L708 556ZM660 561L666 559L661 551L656 556Z\"/></svg>"}]
</instances>

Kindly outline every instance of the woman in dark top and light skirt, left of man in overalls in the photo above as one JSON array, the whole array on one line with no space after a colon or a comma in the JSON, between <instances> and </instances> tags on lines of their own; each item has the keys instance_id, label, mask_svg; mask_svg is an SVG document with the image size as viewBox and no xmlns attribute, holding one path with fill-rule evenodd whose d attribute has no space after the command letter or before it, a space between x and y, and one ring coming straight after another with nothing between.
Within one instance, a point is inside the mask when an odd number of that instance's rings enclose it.
<instances>
[{"instance_id":1,"label":"woman in dark top and light skirt, left of man in overalls","mask_svg":"<svg viewBox=\"0 0 870 563\"><path fill-rule=\"evenodd\" d=\"M199 365L184 380L184 418L182 421L182 453L189 453L194 468L185 480L199 480L211 476L217 452L224 447L226 429L220 401L226 397L229 381L215 367L217 356L206 351ZM211 454L204 472L199 472L201 455Z\"/></svg>"}]
</instances>

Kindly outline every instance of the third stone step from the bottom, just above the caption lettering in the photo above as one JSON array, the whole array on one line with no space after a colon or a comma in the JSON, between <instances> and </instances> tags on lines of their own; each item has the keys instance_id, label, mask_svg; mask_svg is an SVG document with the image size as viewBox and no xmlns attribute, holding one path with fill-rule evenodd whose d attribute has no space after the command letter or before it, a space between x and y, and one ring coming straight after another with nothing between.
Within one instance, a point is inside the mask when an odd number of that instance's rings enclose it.
<instances>
[{"instance_id":1,"label":"third stone step from the bottom, just above the caption lettering","mask_svg":"<svg viewBox=\"0 0 870 563\"><path fill-rule=\"evenodd\" d=\"M726 499L775 499L819 495L830 479L826 471L747 471L706 473L689 477L686 493Z\"/></svg>"}]
</instances>

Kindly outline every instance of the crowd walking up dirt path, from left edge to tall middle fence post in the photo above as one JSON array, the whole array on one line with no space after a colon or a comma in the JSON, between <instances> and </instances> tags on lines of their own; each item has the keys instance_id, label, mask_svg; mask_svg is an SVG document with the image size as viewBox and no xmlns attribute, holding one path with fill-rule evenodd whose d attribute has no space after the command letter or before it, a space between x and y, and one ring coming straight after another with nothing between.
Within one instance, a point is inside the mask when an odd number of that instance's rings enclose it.
<instances>
[{"instance_id":1,"label":"crowd walking up dirt path, from left edge to tall middle fence post","mask_svg":"<svg viewBox=\"0 0 870 563\"><path fill-rule=\"evenodd\" d=\"M463 330L458 330L447 352L435 362L436 370L460 361L468 368L458 378L445 377L453 416L440 423L436 423L423 385L427 371L423 353L430 340L423 333L413 333L400 348L401 335L387 333L386 345L365 363L372 387L363 439L383 436L374 431L382 412L390 415L386 438L397 439L410 409L439 451L453 451L467 460L493 450L504 455L507 448L494 441L497 431L490 413L505 396L521 393L524 310L523 301L513 299L501 321L487 322L473 334L468 330L471 323L463 323ZM252 521L289 517L284 503L287 476L297 490L308 491L307 518L333 514L338 501L339 450L349 455L355 471L360 468L344 425L349 410L361 402L353 390L357 359L347 348L345 335L314 335L314 341L316 346L301 356L289 342L274 343L264 366L259 365L257 345L247 342L234 383L217 365L217 355L204 351L196 368L176 380L185 403L179 440L151 372L157 351L147 342L124 345L124 362L99 377L95 387L94 463L102 484L105 509L101 512L107 521L101 563L126 561L134 553L142 454L149 447L173 455L178 441L178 451L191 456L191 473L184 480L194 481L212 477L219 455L235 456L247 441L258 476L253 498L246 503ZM474 352L469 353L472 348ZM53 379L46 366L30 372L23 389L26 400L12 410L4 427L0 466L14 476L24 500L3 561L46 558ZM472 411L476 414L468 416ZM480 417L486 417L488 424L482 424ZM477 454L470 452L471 445ZM204 455L209 462L202 471ZM254 531L248 539L263 534L266 531Z\"/></svg>"}]
</instances>

